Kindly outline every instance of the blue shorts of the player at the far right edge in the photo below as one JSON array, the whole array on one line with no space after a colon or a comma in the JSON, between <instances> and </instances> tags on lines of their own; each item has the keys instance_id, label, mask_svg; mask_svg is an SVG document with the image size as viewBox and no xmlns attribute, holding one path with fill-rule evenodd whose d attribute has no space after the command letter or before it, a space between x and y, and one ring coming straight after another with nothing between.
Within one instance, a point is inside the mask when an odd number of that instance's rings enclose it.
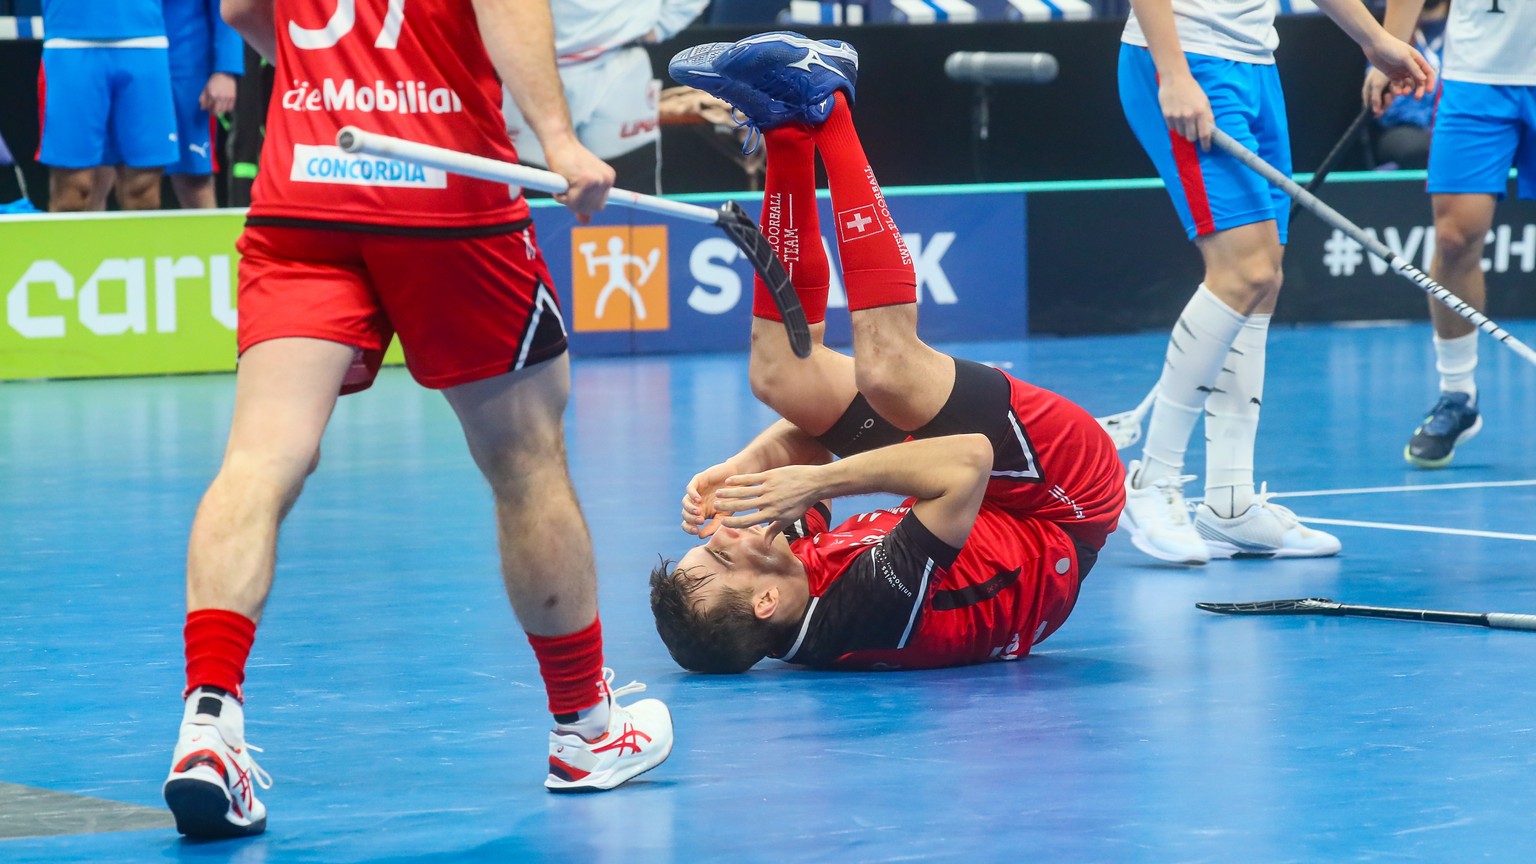
<instances>
[{"instance_id":1,"label":"blue shorts of the player at the far right edge","mask_svg":"<svg viewBox=\"0 0 1536 864\"><path fill-rule=\"evenodd\" d=\"M1502 198L1511 164L1519 171L1519 197L1536 198L1536 86L1444 81L1428 191Z\"/></svg>"}]
</instances>

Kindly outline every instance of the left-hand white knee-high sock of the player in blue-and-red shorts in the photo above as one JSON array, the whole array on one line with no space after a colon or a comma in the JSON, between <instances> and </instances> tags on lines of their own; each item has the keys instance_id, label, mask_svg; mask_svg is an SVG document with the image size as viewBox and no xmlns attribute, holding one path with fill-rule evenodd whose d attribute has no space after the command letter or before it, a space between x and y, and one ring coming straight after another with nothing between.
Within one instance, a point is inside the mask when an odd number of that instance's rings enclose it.
<instances>
[{"instance_id":1,"label":"left-hand white knee-high sock of the player in blue-and-red shorts","mask_svg":"<svg viewBox=\"0 0 1536 864\"><path fill-rule=\"evenodd\" d=\"M1163 377L1157 381L1157 401L1147 423L1141 450L1141 470L1130 480L1137 489L1154 480L1180 474L1184 450L1195 430L1206 397L1227 358L1232 340L1243 329L1243 315L1200 284L1167 340Z\"/></svg>"}]
</instances>

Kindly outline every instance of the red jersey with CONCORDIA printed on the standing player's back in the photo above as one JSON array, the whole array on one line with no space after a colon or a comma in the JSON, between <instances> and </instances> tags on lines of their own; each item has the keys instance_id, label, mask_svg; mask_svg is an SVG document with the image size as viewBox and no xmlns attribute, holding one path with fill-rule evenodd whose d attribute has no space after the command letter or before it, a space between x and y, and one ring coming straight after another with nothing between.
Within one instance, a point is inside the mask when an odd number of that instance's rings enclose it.
<instances>
[{"instance_id":1,"label":"red jersey with CONCORDIA printed on the standing player's back","mask_svg":"<svg viewBox=\"0 0 1536 864\"><path fill-rule=\"evenodd\" d=\"M276 0L276 34L252 217L392 228L484 228L528 217L527 201L504 183L336 146L338 129L358 126L516 161L501 80L470 0Z\"/></svg>"}]
</instances>

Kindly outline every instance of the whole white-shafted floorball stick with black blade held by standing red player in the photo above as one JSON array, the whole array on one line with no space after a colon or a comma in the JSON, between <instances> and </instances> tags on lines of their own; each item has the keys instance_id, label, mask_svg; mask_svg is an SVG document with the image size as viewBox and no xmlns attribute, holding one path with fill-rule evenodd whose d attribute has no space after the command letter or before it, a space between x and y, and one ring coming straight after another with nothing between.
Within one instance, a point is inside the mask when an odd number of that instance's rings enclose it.
<instances>
[{"instance_id":1,"label":"whole white-shafted floorball stick with black blade held by standing red player","mask_svg":"<svg viewBox=\"0 0 1536 864\"><path fill-rule=\"evenodd\" d=\"M553 171L364 132L356 126L343 126L336 132L336 146L349 154L398 158L464 177L510 183L553 195L559 195L567 189L565 178ZM774 304L779 307L779 315L783 318L783 327L790 335L790 347L796 357L811 355L811 327L805 320L805 309L800 307L800 298L794 294L794 286L790 283L790 274L785 272L779 257L774 255L773 246L768 244L768 238L763 237L757 223L746 215L746 211L740 204L727 201L719 209L710 209L624 189L610 189L608 203L719 226L731 238L731 243L746 255L746 260L757 271L757 275L762 277L763 283L768 284Z\"/></svg>"}]
</instances>

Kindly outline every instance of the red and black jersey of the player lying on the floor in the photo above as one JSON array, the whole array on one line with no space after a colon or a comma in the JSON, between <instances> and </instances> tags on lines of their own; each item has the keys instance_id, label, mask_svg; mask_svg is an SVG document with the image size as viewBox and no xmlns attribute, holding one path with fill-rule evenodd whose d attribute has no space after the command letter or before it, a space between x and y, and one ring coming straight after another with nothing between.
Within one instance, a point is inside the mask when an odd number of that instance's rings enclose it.
<instances>
[{"instance_id":1,"label":"red and black jersey of the player lying on the floor","mask_svg":"<svg viewBox=\"0 0 1536 864\"><path fill-rule=\"evenodd\" d=\"M1077 603L1072 538L1052 521L983 503L962 549L908 504L826 530L817 506L790 549L811 601L788 663L840 669L934 669L1029 653Z\"/></svg>"}]
</instances>

